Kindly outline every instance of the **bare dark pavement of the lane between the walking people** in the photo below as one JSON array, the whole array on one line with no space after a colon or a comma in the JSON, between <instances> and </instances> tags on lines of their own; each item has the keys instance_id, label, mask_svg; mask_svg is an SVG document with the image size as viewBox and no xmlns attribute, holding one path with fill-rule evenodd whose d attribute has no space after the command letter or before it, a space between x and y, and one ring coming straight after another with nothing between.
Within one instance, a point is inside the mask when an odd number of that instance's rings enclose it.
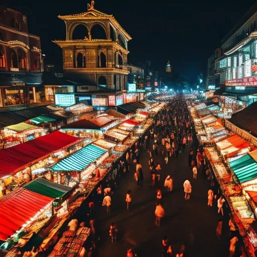
<instances>
[{"instance_id":1,"label":"bare dark pavement of the lane between the walking people","mask_svg":"<svg viewBox=\"0 0 257 257\"><path fill-rule=\"evenodd\" d=\"M151 145L151 144L150 144ZM127 248L132 247L138 256L161 256L161 241L167 235L173 245L173 253L179 251L182 244L186 245L186 256L217 256L221 247L217 245L216 225L220 218L217 214L217 202L213 207L207 206L207 191L209 182L204 181L198 172L198 178L193 180L192 169L188 167L189 147L179 155L179 161L173 156L168 165L164 156L155 157L161 163L160 187L163 191L163 203L166 211L161 220L161 226L155 226L156 189L151 188L149 172L149 154L145 148L141 150L140 163L144 172L144 183L138 188L133 179L135 166L131 172L122 174L118 180L118 188L112 196L110 213L101 206L99 222L101 224L101 245L97 247L95 256L125 256ZM165 178L173 178L173 192L164 189ZM191 199L184 200L183 183L189 179L192 184ZM126 211L125 195L132 190L131 210ZM112 244L109 236L109 226L114 222L117 226L117 243ZM228 245L222 247L227 249Z\"/></svg>"}]
</instances>

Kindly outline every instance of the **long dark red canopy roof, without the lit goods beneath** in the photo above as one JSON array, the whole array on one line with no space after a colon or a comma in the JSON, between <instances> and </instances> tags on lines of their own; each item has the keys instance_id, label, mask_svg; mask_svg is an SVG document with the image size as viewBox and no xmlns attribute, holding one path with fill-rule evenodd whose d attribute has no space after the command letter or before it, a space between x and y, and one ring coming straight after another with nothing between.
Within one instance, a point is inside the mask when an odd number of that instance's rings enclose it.
<instances>
[{"instance_id":1,"label":"long dark red canopy roof, without the lit goods beneath","mask_svg":"<svg viewBox=\"0 0 257 257\"><path fill-rule=\"evenodd\" d=\"M19 171L32 162L69 147L80 139L56 131L0 151L0 177Z\"/></svg>"}]
</instances>

